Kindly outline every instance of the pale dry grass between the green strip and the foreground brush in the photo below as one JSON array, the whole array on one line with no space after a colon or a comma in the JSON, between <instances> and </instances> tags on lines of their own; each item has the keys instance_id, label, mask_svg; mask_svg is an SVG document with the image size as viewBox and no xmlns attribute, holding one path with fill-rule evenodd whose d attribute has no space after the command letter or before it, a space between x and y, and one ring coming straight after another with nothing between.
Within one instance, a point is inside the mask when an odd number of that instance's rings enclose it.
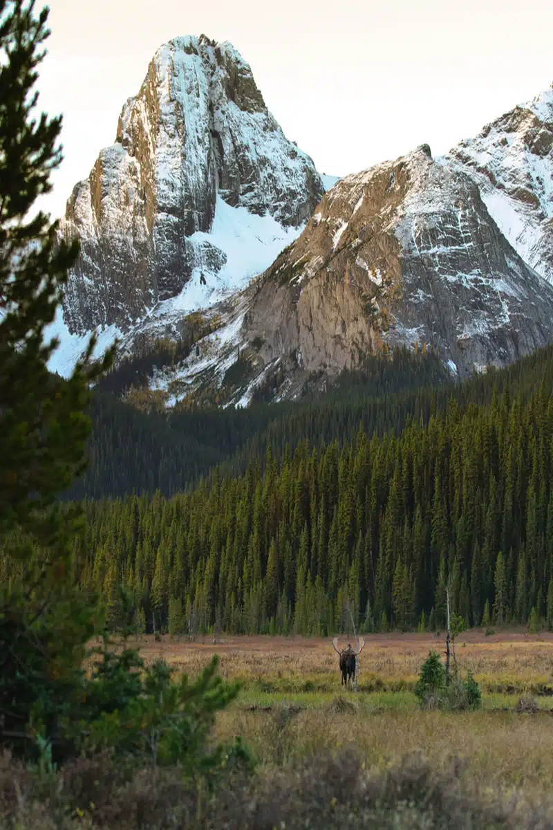
<instances>
[{"instance_id":1,"label":"pale dry grass between the green strip and the foreground brush","mask_svg":"<svg viewBox=\"0 0 553 830\"><path fill-rule=\"evenodd\" d=\"M283 717L284 714L284 717ZM452 714L385 710L355 713L304 709L222 712L221 739L241 735L264 763L317 757L323 749L355 744L366 763L382 768L422 750L437 766L456 754L468 759L469 776L489 785L550 789L553 779L553 717L507 712Z\"/></svg>"}]
</instances>

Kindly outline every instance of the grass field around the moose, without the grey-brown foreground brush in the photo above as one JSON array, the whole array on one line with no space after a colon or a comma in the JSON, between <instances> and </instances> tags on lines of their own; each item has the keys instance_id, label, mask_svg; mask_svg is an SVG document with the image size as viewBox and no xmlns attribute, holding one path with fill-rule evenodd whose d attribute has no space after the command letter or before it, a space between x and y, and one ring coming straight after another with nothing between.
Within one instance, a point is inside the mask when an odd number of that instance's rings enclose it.
<instances>
[{"instance_id":1,"label":"grass field around the moose, without the grey-brown foreground brush","mask_svg":"<svg viewBox=\"0 0 553 830\"><path fill-rule=\"evenodd\" d=\"M342 638L343 640L343 638ZM472 669L483 691L477 712L421 711L413 687L430 649L429 634L367 635L357 693L343 690L327 639L221 637L216 644L163 637L140 643L146 662L163 657L195 675L213 654L221 674L242 683L238 701L219 715L221 739L241 735L264 765L316 757L355 744L382 769L421 750L433 764L468 759L475 781L544 792L553 779L553 636L466 632L456 647L459 670ZM342 641L341 641L342 642ZM519 714L536 696L540 711Z\"/></svg>"}]
</instances>

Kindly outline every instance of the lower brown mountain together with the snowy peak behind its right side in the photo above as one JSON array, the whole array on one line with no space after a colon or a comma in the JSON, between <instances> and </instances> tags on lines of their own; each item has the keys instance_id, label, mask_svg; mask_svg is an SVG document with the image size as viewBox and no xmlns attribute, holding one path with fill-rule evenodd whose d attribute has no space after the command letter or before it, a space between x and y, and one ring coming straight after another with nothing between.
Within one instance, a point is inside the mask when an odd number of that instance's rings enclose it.
<instances>
[{"instance_id":1,"label":"lower brown mountain together with the snowy peak behind its right side","mask_svg":"<svg viewBox=\"0 0 553 830\"><path fill-rule=\"evenodd\" d=\"M338 182L243 293L240 330L215 354L206 341L177 388L221 384L237 345L240 403L271 375L274 399L293 398L386 344L437 349L461 377L507 364L553 338L552 228L547 90L442 158L423 145Z\"/></svg>"}]
</instances>

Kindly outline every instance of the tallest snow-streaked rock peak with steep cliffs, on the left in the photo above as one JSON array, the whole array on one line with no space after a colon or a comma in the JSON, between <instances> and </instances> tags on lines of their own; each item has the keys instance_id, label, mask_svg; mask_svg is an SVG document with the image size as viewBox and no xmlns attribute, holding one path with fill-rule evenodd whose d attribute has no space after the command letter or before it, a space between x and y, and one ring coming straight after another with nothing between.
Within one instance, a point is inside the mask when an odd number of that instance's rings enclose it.
<instances>
[{"instance_id":1,"label":"tallest snow-streaked rock peak with steep cliffs, on the left","mask_svg":"<svg viewBox=\"0 0 553 830\"><path fill-rule=\"evenodd\" d=\"M244 286L297 236L323 189L229 43L169 41L67 203L61 233L81 251L66 325L126 330L186 286L196 305Z\"/></svg>"}]
</instances>

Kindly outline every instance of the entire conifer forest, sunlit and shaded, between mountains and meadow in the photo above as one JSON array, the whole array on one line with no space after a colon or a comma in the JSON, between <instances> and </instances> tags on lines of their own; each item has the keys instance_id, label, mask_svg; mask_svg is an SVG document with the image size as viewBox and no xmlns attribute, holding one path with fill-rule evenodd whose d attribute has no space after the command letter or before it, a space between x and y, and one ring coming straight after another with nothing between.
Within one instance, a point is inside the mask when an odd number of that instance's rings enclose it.
<instances>
[{"instance_id":1,"label":"entire conifer forest, sunlit and shaded, between mountains and meadow","mask_svg":"<svg viewBox=\"0 0 553 830\"><path fill-rule=\"evenodd\" d=\"M129 430L130 470L109 472L121 497L85 501L81 586L103 595L112 627L172 633L327 634L348 605L362 631L440 627L447 586L467 625L551 625L552 357L458 384L414 363L414 383L434 378L413 391L385 397L384 375L358 373L323 398L244 412L138 417L111 403L144 442Z\"/></svg>"}]
</instances>

